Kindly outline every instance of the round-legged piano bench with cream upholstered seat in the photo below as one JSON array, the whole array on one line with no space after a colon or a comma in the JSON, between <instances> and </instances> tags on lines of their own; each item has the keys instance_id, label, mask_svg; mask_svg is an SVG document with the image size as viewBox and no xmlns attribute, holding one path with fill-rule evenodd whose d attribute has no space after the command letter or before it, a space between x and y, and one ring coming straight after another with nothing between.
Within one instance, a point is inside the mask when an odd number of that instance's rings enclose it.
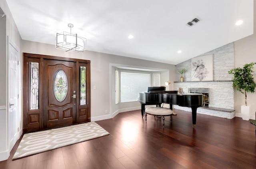
<instances>
[{"instance_id":1,"label":"round-legged piano bench with cream upholstered seat","mask_svg":"<svg viewBox=\"0 0 256 169\"><path fill-rule=\"evenodd\" d=\"M145 109L145 119L147 123L147 115L154 115L156 117L163 117L163 127L164 127L164 119L165 116L170 116L172 121L172 110L166 107L147 107Z\"/></svg>"}]
</instances>

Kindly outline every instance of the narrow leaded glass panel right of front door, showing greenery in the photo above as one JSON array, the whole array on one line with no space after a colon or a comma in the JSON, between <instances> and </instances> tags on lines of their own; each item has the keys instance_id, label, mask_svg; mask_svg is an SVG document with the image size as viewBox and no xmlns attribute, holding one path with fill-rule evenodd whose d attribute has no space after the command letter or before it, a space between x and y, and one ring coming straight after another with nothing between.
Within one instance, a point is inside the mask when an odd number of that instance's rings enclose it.
<instances>
[{"instance_id":1,"label":"narrow leaded glass panel right of front door, showing greenery","mask_svg":"<svg viewBox=\"0 0 256 169\"><path fill-rule=\"evenodd\" d=\"M80 105L86 105L86 66L80 66Z\"/></svg>"}]
</instances>

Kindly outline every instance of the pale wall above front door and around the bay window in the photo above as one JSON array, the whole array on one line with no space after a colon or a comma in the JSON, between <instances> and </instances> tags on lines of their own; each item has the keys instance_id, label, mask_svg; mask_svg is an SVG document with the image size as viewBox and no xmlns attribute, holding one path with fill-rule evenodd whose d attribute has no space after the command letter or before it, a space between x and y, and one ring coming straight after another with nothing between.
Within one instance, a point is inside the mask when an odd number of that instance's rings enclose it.
<instances>
[{"instance_id":1,"label":"pale wall above front door and around the bay window","mask_svg":"<svg viewBox=\"0 0 256 169\"><path fill-rule=\"evenodd\" d=\"M63 50L55 49L54 45L30 42L26 40L22 41L22 52L90 60L92 121L111 118L112 114L115 112L118 113L127 110L129 111L133 109L140 109L140 103L138 101L130 103L120 103L120 105L115 105L113 97L114 90L112 89L112 87L114 87L114 83L111 82L111 77L114 75L114 71L111 68L112 65L126 65L137 68L168 70L171 72L170 77L166 77L165 80L175 78L175 66L159 62L152 62L147 60L115 56L111 54L103 54L91 51L84 51L80 53L65 52ZM168 76L168 74L166 73L165 76ZM164 85L164 82L162 82L161 80L161 85ZM93 89L94 85L96 86L96 89ZM108 111L108 114L105 113L105 110Z\"/></svg>"}]
</instances>

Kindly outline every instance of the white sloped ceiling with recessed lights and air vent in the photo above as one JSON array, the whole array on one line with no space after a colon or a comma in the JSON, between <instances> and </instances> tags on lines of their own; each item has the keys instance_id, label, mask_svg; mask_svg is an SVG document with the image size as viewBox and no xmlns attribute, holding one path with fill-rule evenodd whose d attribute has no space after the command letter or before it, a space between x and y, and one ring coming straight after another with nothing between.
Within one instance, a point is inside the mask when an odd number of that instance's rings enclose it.
<instances>
[{"instance_id":1,"label":"white sloped ceiling with recessed lights and air vent","mask_svg":"<svg viewBox=\"0 0 256 169\"><path fill-rule=\"evenodd\" d=\"M56 33L69 32L72 23L72 33L87 38L87 50L168 64L253 34L253 0L6 2L23 40L54 44ZM188 26L194 18L200 22ZM237 20L244 22L236 26Z\"/></svg>"}]
</instances>

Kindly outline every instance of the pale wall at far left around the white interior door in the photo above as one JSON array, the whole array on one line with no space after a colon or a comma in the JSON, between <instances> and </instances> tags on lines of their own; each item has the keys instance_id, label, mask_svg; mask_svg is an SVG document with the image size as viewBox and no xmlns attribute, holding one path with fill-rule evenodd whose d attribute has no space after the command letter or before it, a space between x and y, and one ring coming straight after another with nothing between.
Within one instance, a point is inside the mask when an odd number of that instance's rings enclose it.
<instances>
[{"instance_id":1,"label":"pale wall at far left around the white interior door","mask_svg":"<svg viewBox=\"0 0 256 169\"><path fill-rule=\"evenodd\" d=\"M13 20L10 9L5 0L0 0L0 8L4 11L6 16L0 19L0 87L1 87L1 97L0 97L0 161L5 160L10 155L10 150L8 143L8 49L7 49L7 36L12 40L18 48L20 48L21 37ZM4 32L5 30L5 32ZM21 54L20 54L21 58ZM20 60L19 58L19 60ZM22 64L22 63L21 63ZM22 99L22 97L20 97ZM20 107L22 109L22 107ZM21 115L21 112L18 112ZM18 122L20 129L22 129L22 119ZM11 125L11 124L10 124Z\"/></svg>"}]
</instances>

